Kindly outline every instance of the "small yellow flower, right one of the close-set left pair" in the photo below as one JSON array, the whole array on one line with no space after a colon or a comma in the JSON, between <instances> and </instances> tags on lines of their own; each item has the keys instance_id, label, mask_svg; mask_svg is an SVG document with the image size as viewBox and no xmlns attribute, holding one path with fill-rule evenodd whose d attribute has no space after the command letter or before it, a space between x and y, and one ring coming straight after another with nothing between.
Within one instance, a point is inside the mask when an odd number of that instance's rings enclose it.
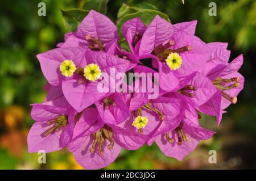
<instances>
[{"instance_id":1,"label":"small yellow flower, right one of the close-set left pair","mask_svg":"<svg viewBox=\"0 0 256 181\"><path fill-rule=\"evenodd\" d=\"M86 65L84 68L84 77L94 82L101 77L101 69L97 64Z\"/></svg>"}]
</instances>

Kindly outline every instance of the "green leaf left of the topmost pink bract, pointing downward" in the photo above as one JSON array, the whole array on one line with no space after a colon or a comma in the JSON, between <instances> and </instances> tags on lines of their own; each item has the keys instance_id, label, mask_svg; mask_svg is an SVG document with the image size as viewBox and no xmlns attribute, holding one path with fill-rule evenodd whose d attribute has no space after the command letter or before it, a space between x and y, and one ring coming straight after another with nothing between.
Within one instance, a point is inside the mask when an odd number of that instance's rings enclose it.
<instances>
[{"instance_id":1,"label":"green leaf left of the topmost pink bract, pointing downward","mask_svg":"<svg viewBox=\"0 0 256 181\"><path fill-rule=\"evenodd\" d=\"M81 9L70 9L70 10L61 10L63 15L64 27L68 31L76 31L79 27L79 24L89 13L88 10Z\"/></svg>"}]
</instances>

